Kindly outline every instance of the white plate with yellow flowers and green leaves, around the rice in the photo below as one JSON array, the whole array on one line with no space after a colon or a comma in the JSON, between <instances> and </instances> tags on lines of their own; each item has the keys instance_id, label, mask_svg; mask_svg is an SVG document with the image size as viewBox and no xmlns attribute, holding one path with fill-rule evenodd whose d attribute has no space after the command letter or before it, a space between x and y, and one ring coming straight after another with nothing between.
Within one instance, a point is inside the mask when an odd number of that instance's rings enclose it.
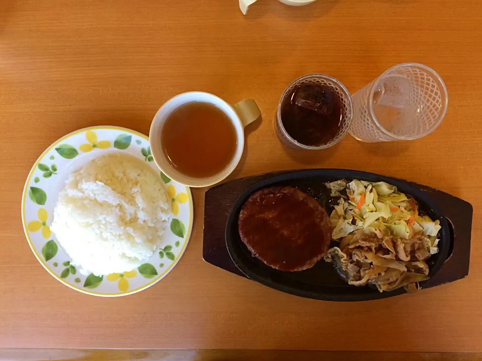
<instances>
[{"instance_id":1,"label":"white plate with yellow flowers and green leaves, around the rice","mask_svg":"<svg viewBox=\"0 0 482 361\"><path fill-rule=\"evenodd\" d=\"M158 174L172 200L173 214L162 236L161 250L138 269L104 276L83 275L50 231L53 210L68 175L95 157L126 152L147 162ZM22 197L22 223L30 248L49 273L77 291L103 297L125 296L152 286L176 265L192 230L191 191L160 172L151 155L149 138L134 130L97 126L77 130L57 140L37 159Z\"/></svg>"}]
</instances>

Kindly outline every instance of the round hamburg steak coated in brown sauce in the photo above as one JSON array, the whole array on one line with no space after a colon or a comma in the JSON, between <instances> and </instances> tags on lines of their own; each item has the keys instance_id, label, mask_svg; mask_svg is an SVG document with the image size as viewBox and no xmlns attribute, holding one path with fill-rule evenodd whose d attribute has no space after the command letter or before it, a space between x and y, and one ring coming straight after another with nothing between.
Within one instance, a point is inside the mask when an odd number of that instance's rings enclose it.
<instances>
[{"instance_id":1,"label":"round hamburg steak coated in brown sauce","mask_svg":"<svg viewBox=\"0 0 482 361\"><path fill-rule=\"evenodd\" d=\"M313 267L331 241L324 208L293 187L269 187L253 193L239 213L237 225L253 257L281 271Z\"/></svg>"}]
</instances>

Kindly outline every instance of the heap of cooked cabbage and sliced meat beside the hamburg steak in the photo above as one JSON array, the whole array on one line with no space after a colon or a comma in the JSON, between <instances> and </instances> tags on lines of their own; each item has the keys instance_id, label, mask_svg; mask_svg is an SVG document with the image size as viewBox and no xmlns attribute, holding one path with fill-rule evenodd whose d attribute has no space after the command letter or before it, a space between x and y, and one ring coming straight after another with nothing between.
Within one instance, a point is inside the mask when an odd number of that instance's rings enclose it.
<instances>
[{"instance_id":1,"label":"heap of cooked cabbage and sliced meat beside the hamburg steak","mask_svg":"<svg viewBox=\"0 0 482 361\"><path fill-rule=\"evenodd\" d=\"M340 199L330 215L332 239L339 244L324 259L337 263L349 284L411 292L429 278L426 261L438 252L438 220L420 215L414 199L385 182L341 179L325 185Z\"/></svg>"}]
</instances>

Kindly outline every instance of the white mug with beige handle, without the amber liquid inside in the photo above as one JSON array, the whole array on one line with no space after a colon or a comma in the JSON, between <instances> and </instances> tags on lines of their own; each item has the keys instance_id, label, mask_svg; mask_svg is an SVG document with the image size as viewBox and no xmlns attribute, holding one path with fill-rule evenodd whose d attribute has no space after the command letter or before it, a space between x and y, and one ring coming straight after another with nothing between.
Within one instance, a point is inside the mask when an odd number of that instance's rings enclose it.
<instances>
[{"instance_id":1,"label":"white mug with beige handle, without the amber liquid inside","mask_svg":"<svg viewBox=\"0 0 482 361\"><path fill-rule=\"evenodd\" d=\"M162 146L161 133L166 120L177 108L193 102L209 103L221 109L229 117L236 131L236 150L231 161L222 171L207 178L194 178L179 172L167 159ZM164 103L152 120L149 132L152 156L163 173L176 182L188 187L212 186L227 177L239 163L245 146L245 126L260 116L260 108L253 99L246 99L235 105L230 105L221 98L209 93L188 92L179 94Z\"/></svg>"}]
</instances>

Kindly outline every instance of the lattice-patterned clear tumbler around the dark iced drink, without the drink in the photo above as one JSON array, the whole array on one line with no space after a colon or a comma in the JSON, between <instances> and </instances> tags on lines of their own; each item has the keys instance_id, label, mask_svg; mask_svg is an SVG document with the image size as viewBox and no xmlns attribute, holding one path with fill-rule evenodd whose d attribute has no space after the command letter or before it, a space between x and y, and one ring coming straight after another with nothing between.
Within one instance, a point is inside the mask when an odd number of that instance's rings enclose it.
<instances>
[{"instance_id":1,"label":"lattice-patterned clear tumbler around the dark iced drink, without the drink","mask_svg":"<svg viewBox=\"0 0 482 361\"><path fill-rule=\"evenodd\" d=\"M326 85L329 86L336 94L336 97L339 100L339 104L341 106L341 120L340 120L340 129L336 133L335 137L330 139L329 141L325 142L324 144L311 146L302 144L295 139L293 139L288 132L286 131L285 127L283 126L283 122L281 121L281 105L285 98L291 94L291 92L304 84L316 84L316 85ZM343 138L351 124L351 118L353 116L353 105L351 103L350 93L346 88L335 78L332 78L328 75L324 74L310 74L302 76L301 78L296 79L293 81L283 92L281 95L280 102L278 104L278 111L276 112L275 118L275 130L278 138L287 146L292 148L298 149L324 149L328 148L336 143L338 143L341 138Z\"/></svg>"}]
</instances>

